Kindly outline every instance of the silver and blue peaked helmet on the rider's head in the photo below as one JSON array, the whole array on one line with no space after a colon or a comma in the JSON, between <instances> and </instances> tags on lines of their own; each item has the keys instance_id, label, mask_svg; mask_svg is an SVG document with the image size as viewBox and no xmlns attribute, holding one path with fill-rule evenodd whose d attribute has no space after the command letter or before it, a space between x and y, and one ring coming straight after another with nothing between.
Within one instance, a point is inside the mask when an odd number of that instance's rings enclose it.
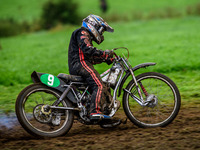
<instances>
[{"instance_id":1,"label":"silver and blue peaked helmet on the rider's head","mask_svg":"<svg viewBox=\"0 0 200 150\"><path fill-rule=\"evenodd\" d=\"M97 44L103 42L104 31L114 32L114 29L110 27L101 17L92 14L83 19L82 27L89 30Z\"/></svg>"}]
</instances>

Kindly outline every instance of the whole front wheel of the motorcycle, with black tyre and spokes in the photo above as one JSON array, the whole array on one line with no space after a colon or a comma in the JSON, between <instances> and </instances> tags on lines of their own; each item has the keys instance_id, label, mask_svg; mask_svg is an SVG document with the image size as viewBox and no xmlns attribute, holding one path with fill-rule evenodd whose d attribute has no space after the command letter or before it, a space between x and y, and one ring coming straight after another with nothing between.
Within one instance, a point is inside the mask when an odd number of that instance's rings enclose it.
<instances>
[{"instance_id":1,"label":"whole front wheel of the motorcycle, with black tyre and spokes","mask_svg":"<svg viewBox=\"0 0 200 150\"><path fill-rule=\"evenodd\" d=\"M181 97L175 83L167 76L147 72L136 77L146 106L139 105L134 81L130 81L124 91L123 108L127 117L139 127L163 127L177 116ZM129 91L129 92L127 92Z\"/></svg>"}]
</instances>

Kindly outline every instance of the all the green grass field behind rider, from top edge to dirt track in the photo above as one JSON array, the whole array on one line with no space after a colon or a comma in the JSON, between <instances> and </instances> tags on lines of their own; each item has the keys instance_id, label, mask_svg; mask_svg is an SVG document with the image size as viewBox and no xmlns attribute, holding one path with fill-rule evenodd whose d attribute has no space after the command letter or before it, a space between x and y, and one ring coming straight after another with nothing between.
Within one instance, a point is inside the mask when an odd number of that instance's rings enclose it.
<instances>
[{"instance_id":1,"label":"all the green grass field behind rider, from top edge to dirt track","mask_svg":"<svg viewBox=\"0 0 200 150\"><path fill-rule=\"evenodd\" d=\"M0 1L0 18L13 17L18 21L32 21L40 15L40 1ZM101 14L94 1L77 0L82 15L94 12ZM197 0L177 0L147 2L127 0L133 5L121 4L119 0L108 1L108 14L142 11L149 13L170 5L185 9ZM15 6L15 7L14 7ZM112 6L112 7L111 7ZM26 7L26 9L24 9ZM89 7L89 8L88 8ZM9 8L9 9L8 9ZM91 8L91 9L90 9ZM20 10L21 15L17 13ZM16 12L16 13L12 13ZM108 20L109 22L109 20ZM109 22L110 23L110 22ZM199 103L200 97L200 17L190 16L171 19L138 20L115 22L111 26L114 33L105 33L105 41L96 45L99 49L112 49L124 46L130 50L133 66L144 62L156 62L146 71L166 74L178 85L184 102ZM14 110L18 93L31 84L31 73L46 72L57 75L68 73L67 49L73 30L78 26L58 26L50 31L40 31L0 39L0 112ZM106 64L96 65L99 72L105 71ZM145 71L144 69L142 71ZM137 74L140 72L136 72Z\"/></svg>"}]
</instances>

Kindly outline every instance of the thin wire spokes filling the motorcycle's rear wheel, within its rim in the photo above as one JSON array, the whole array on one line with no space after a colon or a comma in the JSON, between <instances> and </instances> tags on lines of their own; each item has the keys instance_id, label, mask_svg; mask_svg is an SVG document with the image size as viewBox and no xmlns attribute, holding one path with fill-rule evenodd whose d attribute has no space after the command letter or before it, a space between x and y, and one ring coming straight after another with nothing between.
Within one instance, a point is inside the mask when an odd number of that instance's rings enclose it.
<instances>
[{"instance_id":1,"label":"thin wire spokes filling the motorcycle's rear wheel, within its rim","mask_svg":"<svg viewBox=\"0 0 200 150\"><path fill-rule=\"evenodd\" d=\"M56 114L52 113L52 111L47 111L47 114L44 114L42 111L42 107L44 105L49 105L52 103L53 100L56 100L59 98L59 95L54 93L51 90L45 90L45 89L37 89L36 91L29 94L29 96L25 99L24 104L24 116L27 118L28 123L30 126L32 126L34 129L44 132L44 133L51 133L55 131L59 131L62 129L67 121L67 111L63 111L65 119L62 121L52 121L53 118L55 118ZM63 101L64 102L64 101ZM66 106L65 103L61 103L60 105ZM33 117L28 117L28 116Z\"/></svg>"}]
</instances>

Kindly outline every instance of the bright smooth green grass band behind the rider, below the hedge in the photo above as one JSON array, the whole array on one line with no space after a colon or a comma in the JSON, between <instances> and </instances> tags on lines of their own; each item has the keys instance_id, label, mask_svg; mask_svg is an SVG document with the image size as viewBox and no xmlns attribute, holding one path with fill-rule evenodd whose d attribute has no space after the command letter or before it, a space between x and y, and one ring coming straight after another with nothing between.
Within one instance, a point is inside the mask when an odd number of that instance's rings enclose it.
<instances>
[{"instance_id":1,"label":"bright smooth green grass band behind the rider, below the hedge","mask_svg":"<svg viewBox=\"0 0 200 150\"><path fill-rule=\"evenodd\" d=\"M105 33L105 41L98 48L128 47L133 65L156 62L154 70L163 73L199 70L199 22L196 17L115 23L115 33ZM67 49L75 28L2 38L0 83L29 83L33 70L55 75L67 72Z\"/></svg>"}]
</instances>

